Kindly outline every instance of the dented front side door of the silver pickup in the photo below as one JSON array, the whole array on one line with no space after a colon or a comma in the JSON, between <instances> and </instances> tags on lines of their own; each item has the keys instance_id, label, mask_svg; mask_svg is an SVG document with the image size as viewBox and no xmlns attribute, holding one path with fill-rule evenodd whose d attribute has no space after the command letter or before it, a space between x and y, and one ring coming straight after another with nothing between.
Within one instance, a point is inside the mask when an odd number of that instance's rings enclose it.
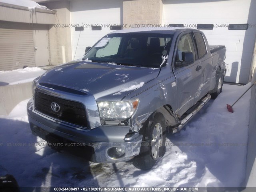
<instances>
[{"instance_id":1,"label":"dented front side door of the silver pickup","mask_svg":"<svg viewBox=\"0 0 256 192\"><path fill-rule=\"evenodd\" d=\"M182 52L192 52L194 62L187 66L178 66L177 63L182 61ZM176 43L174 52L173 71L176 77L177 102L176 113L182 116L191 108L197 100L198 89L201 81L200 60L198 59L196 44L192 32L182 33Z\"/></svg>"}]
</instances>

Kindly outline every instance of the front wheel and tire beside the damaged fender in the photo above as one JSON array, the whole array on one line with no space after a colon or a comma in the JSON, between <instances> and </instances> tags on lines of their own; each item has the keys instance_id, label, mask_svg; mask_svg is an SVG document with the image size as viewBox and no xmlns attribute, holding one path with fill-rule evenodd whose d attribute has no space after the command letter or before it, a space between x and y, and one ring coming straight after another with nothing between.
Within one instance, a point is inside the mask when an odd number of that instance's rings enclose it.
<instances>
[{"instance_id":1,"label":"front wheel and tire beside the damaged fender","mask_svg":"<svg viewBox=\"0 0 256 192\"><path fill-rule=\"evenodd\" d=\"M133 165L148 170L164 155L166 140L166 123L161 113L156 113L143 135L140 154L134 157Z\"/></svg>"}]
</instances>

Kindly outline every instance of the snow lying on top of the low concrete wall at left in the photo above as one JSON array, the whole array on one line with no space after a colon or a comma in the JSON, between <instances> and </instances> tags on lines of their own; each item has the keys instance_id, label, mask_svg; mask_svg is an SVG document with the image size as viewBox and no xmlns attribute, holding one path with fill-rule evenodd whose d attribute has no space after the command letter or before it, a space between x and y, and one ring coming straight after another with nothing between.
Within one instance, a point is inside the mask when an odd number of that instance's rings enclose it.
<instances>
[{"instance_id":1,"label":"snow lying on top of the low concrete wall at left","mask_svg":"<svg viewBox=\"0 0 256 192\"><path fill-rule=\"evenodd\" d=\"M37 67L26 67L11 71L0 71L0 86L32 82L41 76L45 70Z\"/></svg>"}]
</instances>

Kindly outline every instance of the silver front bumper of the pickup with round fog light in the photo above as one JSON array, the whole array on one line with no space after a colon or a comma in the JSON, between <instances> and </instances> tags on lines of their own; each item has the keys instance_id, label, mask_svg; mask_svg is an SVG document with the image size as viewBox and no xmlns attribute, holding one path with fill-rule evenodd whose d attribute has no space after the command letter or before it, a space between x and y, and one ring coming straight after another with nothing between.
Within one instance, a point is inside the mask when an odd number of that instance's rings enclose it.
<instances>
[{"instance_id":1,"label":"silver front bumper of the pickup with round fog light","mask_svg":"<svg viewBox=\"0 0 256 192\"><path fill-rule=\"evenodd\" d=\"M70 127L59 120L48 118L33 109L33 100L27 105L28 120L34 135L51 142L74 142L76 146L93 148L93 162L114 163L132 159L140 153L142 135L129 133L130 126L99 126L92 130Z\"/></svg>"}]
</instances>

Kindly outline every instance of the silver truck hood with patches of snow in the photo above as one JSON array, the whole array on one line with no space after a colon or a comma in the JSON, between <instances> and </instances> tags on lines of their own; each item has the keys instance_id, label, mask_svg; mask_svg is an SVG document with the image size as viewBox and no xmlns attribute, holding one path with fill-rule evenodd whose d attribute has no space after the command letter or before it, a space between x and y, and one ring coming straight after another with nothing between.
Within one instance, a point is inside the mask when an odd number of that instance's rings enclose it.
<instances>
[{"instance_id":1,"label":"silver truck hood with patches of snow","mask_svg":"<svg viewBox=\"0 0 256 192\"><path fill-rule=\"evenodd\" d=\"M98 101L122 100L158 76L158 68L73 61L44 73L38 83L54 84L93 94Z\"/></svg>"}]
</instances>

